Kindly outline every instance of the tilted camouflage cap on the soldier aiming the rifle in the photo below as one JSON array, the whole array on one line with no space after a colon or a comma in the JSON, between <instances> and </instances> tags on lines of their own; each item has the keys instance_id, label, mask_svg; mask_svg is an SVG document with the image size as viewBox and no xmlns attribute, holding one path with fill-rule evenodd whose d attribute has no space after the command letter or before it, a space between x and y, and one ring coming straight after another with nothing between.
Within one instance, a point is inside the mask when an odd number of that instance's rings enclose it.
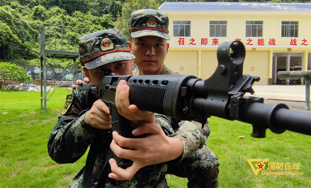
<instances>
[{"instance_id":1,"label":"tilted camouflage cap on the soldier aiming the rifle","mask_svg":"<svg viewBox=\"0 0 311 188\"><path fill-rule=\"evenodd\" d=\"M84 35L79 41L80 61L87 69L135 59L128 40L120 30L107 29Z\"/></svg>"}]
</instances>

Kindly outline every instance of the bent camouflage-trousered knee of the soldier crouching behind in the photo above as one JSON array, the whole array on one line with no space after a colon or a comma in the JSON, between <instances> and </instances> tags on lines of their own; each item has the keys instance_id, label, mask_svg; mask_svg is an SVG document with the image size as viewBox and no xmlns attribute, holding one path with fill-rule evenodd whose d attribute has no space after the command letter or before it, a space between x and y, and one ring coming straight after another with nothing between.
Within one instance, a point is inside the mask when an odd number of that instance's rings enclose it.
<instances>
[{"instance_id":1,"label":"bent camouflage-trousered knee of the soldier crouching behind","mask_svg":"<svg viewBox=\"0 0 311 188\"><path fill-rule=\"evenodd\" d=\"M190 157L167 166L166 174L188 178L188 187L217 187L219 162L206 145Z\"/></svg>"}]
</instances>

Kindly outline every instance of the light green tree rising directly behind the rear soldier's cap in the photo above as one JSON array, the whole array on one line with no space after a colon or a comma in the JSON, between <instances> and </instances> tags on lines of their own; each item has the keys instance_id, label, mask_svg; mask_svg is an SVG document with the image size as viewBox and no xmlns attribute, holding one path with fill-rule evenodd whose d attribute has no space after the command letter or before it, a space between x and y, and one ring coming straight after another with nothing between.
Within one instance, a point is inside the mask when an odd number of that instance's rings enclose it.
<instances>
[{"instance_id":1,"label":"light green tree rising directly behind the rear soldier's cap","mask_svg":"<svg viewBox=\"0 0 311 188\"><path fill-rule=\"evenodd\" d=\"M129 20L133 11L145 8L158 9L156 0L127 0L122 7L122 16L117 16L115 28L123 32L129 38Z\"/></svg>"}]
</instances>

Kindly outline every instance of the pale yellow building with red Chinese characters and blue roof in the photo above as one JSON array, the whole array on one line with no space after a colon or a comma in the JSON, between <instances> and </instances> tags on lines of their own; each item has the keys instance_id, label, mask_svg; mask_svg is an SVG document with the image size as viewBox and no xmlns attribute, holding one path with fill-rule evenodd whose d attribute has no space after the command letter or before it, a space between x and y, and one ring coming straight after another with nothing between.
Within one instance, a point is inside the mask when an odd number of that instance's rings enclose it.
<instances>
[{"instance_id":1,"label":"pale yellow building with red Chinese characters and blue roof","mask_svg":"<svg viewBox=\"0 0 311 188\"><path fill-rule=\"evenodd\" d=\"M165 2L169 16L168 68L209 78L216 50L240 40L246 48L243 74L260 85L278 83L280 70L311 70L311 3Z\"/></svg>"}]
</instances>

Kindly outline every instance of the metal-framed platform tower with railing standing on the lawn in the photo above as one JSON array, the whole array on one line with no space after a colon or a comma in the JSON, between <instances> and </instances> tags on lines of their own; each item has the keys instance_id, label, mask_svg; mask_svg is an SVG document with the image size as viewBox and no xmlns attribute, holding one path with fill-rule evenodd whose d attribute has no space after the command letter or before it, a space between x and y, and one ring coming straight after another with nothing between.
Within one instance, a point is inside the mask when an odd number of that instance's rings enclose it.
<instances>
[{"instance_id":1,"label":"metal-framed platform tower with railing standing on the lawn","mask_svg":"<svg viewBox=\"0 0 311 188\"><path fill-rule=\"evenodd\" d=\"M69 27L69 26L59 26L54 24L44 23L41 28L40 33L40 59L41 59L41 109L43 109L43 101L44 101L44 112L46 112L46 101L52 96L57 87L62 83L68 93L69 90L66 86L71 86L71 83L68 80L66 75L69 73L70 69L73 69L73 78L72 81L76 82L76 75L82 72L80 70L76 70L76 62L79 57L79 40L82 36L82 29L77 27ZM49 59L49 61L48 61ZM58 65L55 63L54 59L63 59L67 64L66 68L61 70ZM68 61L68 63L66 62ZM47 98L46 91L46 81L47 81L47 67L46 63L52 68L53 72L57 75L56 81L53 82L53 85L56 85L56 88L53 90L49 98ZM55 70L59 70L59 73L56 73ZM66 72L67 71L67 72ZM64 83L65 82L65 83ZM42 91L43 90L43 91Z\"/></svg>"}]
</instances>

